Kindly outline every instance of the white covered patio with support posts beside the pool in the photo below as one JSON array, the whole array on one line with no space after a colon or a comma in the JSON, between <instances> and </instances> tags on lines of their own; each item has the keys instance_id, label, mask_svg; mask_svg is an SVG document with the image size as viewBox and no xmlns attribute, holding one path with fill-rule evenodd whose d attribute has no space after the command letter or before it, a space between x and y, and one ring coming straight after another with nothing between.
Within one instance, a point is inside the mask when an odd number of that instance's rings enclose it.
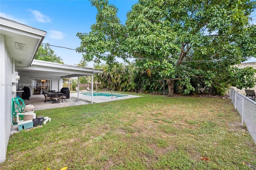
<instances>
[{"instance_id":1,"label":"white covered patio with support posts beside the pool","mask_svg":"<svg viewBox=\"0 0 256 170\"><path fill-rule=\"evenodd\" d=\"M42 95L43 92L48 93L49 90L60 91L63 87L63 78L91 76L91 83L93 85L93 75L96 73L103 73L103 70L100 69L77 67L40 60L33 60L30 67L16 65L16 70L20 76L20 80L17 83L17 89L28 87L31 96ZM91 88L93 89L93 87ZM91 93L93 93L93 90ZM77 99L79 100L79 93L77 93ZM91 103L93 103L92 100Z\"/></svg>"}]
</instances>

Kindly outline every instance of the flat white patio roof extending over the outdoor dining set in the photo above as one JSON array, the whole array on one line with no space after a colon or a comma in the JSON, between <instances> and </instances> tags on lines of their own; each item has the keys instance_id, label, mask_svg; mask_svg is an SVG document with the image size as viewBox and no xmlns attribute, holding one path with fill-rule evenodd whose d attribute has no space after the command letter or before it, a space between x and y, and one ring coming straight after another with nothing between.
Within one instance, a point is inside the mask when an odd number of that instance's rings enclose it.
<instances>
[{"instance_id":1,"label":"flat white patio roof extending over the outdoor dining set","mask_svg":"<svg viewBox=\"0 0 256 170\"><path fill-rule=\"evenodd\" d=\"M30 67L16 66L19 75L26 75L30 78L68 78L94 75L103 73L103 70L77 67L48 61L33 60Z\"/></svg>"}]
</instances>

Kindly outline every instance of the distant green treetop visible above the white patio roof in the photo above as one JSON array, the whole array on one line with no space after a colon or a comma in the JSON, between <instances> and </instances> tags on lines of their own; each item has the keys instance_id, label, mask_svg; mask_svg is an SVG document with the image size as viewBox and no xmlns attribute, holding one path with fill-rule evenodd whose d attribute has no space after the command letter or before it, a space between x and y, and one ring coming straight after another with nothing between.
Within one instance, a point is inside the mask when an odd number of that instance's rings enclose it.
<instances>
[{"instance_id":1,"label":"distant green treetop visible above the white patio roof","mask_svg":"<svg viewBox=\"0 0 256 170\"><path fill-rule=\"evenodd\" d=\"M40 45L35 59L64 64L61 57L57 57L57 55L54 54L54 51L50 48L48 43L46 45Z\"/></svg>"}]
</instances>

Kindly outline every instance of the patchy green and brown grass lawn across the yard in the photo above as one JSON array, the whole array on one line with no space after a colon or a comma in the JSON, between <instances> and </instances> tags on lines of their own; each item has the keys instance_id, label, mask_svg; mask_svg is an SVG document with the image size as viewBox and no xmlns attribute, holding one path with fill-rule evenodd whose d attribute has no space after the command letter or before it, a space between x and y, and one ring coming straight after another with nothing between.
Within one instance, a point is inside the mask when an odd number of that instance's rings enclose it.
<instances>
[{"instance_id":1,"label":"patchy green and brown grass lawn across the yard","mask_svg":"<svg viewBox=\"0 0 256 170\"><path fill-rule=\"evenodd\" d=\"M52 121L10 136L0 169L256 168L256 145L230 100L140 95L35 111Z\"/></svg>"}]
</instances>

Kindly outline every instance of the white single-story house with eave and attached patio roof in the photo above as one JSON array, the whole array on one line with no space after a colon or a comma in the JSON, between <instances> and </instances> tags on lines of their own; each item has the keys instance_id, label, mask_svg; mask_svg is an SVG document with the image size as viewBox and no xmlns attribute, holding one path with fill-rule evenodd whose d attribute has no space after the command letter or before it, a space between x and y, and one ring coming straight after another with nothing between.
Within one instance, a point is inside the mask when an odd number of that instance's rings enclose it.
<instances>
[{"instance_id":1,"label":"white single-story house with eave and attached patio roof","mask_svg":"<svg viewBox=\"0 0 256 170\"><path fill-rule=\"evenodd\" d=\"M63 78L103 73L102 70L34 60L46 32L0 17L0 163L6 160L12 127L12 98L16 89L31 95L62 88ZM92 92L93 93L93 92Z\"/></svg>"}]
</instances>

